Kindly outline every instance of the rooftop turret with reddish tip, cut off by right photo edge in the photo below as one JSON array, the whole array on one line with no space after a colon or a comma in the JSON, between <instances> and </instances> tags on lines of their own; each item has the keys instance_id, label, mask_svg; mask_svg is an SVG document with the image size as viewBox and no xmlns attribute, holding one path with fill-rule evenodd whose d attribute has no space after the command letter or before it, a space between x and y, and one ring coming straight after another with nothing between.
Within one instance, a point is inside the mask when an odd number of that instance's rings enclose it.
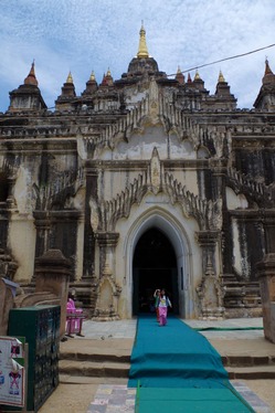
<instances>
[{"instance_id":1,"label":"rooftop turret with reddish tip, cut off by right photo edge","mask_svg":"<svg viewBox=\"0 0 275 413\"><path fill-rule=\"evenodd\" d=\"M254 103L256 109L275 112L275 75L271 70L267 59L265 60L265 73L262 78L262 87Z\"/></svg>"}]
</instances>

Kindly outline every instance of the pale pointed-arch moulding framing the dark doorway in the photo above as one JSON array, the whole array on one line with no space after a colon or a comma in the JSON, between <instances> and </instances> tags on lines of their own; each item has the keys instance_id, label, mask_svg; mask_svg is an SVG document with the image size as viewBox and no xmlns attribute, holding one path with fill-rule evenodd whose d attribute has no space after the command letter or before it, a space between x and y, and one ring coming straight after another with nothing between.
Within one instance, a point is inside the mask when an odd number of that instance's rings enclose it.
<instances>
[{"instance_id":1,"label":"pale pointed-arch moulding framing the dark doorway","mask_svg":"<svg viewBox=\"0 0 275 413\"><path fill-rule=\"evenodd\" d=\"M154 209L145 214L133 224L128 236L125 237L125 256L127 257L127 313L133 316L133 298L134 298L134 274L133 260L136 246L140 237L150 229L157 229L169 240L177 263L177 285L178 285L178 313L182 318L190 318L194 313L194 288L192 287L192 264L191 248L187 233L182 225L167 211ZM160 286L161 288L161 286Z\"/></svg>"}]
</instances>

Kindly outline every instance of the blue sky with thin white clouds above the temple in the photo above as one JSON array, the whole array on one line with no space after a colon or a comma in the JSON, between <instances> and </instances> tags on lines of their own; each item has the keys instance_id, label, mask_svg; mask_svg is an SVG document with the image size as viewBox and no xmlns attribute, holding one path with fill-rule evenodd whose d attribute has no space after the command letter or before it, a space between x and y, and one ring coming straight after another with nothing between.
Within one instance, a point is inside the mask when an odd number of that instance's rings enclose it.
<instances>
[{"instance_id":1,"label":"blue sky with thin white clouds above the temple","mask_svg":"<svg viewBox=\"0 0 275 413\"><path fill-rule=\"evenodd\" d=\"M0 0L0 112L33 60L47 107L70 71L77 95L92 71L98 83L108 68L120 78L137 54L141 21L149 54L167 74L275 43L274 0ZM266 56L275 73L275 47L199 73L214 94L222 70L237 106L252 108Z\"/></svg>"}]
</instances>

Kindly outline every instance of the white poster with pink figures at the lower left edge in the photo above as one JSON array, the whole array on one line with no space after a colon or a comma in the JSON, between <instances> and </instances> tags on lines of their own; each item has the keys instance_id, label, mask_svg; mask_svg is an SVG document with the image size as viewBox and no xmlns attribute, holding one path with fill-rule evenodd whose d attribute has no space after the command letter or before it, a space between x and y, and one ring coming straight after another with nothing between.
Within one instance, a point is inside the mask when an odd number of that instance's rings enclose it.
<instances>
[{"instance_id":1,"label":"white poster with pink figures at the lower left edge","mask_svg":"<svg viewBox=\"0 0 275 413\"><path fill-rule=\"evenodd\" d=\"M0 336L0 404L24 406L23 340Z\"/></svg>"}]
</instances>

